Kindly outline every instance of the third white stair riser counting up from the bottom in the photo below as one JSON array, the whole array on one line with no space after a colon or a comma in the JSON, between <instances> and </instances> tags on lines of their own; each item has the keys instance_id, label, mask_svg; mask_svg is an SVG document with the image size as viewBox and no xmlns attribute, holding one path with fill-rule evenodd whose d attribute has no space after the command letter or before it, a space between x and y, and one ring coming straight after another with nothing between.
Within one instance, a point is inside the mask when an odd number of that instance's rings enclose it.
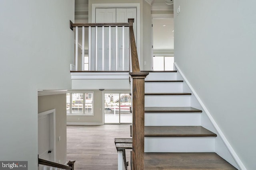
<instances>
[{"instance_id":1,"label":"third white stair riser counting up from the bottom","mask_svg":"<svg viewBox=\"0 0 256 170\"><path fill-rule=\"evenodd\" d=\"M145 96L145 107L190 107L189 95Z\"/></svg>"}]
</instances>

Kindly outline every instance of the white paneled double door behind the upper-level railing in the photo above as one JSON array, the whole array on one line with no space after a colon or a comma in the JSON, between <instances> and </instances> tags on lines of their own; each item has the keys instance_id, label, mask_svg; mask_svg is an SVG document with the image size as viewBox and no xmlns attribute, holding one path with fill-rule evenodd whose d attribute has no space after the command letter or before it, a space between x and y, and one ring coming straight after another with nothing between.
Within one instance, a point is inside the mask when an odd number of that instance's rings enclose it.
<instances>
[{"instance_id":1,"label":"white paneled double door behind the upper-level railing","mask_svg":"<svg viewBox=\"0 0 256 170\"><path fill-rule=\"evenodd\" d=\"M128 18L135 19L134 34L136 38L136 8L96 9L96 23L127 23ZM128 27L111 27L111 30L109 30L109 27L99 27L97 37L95 52L95 58L97 59L95 61L96 70L129 70Z\"/></svg>"}]
</instances>

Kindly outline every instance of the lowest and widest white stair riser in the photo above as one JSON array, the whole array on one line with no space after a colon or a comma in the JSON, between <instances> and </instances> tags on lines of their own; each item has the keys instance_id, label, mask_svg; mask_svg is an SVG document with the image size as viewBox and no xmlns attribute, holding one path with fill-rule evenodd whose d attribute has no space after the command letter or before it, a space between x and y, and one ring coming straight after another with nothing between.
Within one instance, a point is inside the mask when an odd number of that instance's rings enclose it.
<instances>
[{"instance_id":1,"label":"lowest and widest white stair riser","mask_svg":"<svg viewBox=\"0 0 256 170\"><path fill-rule=\"evenodd\" d=\"M145 152L214 152L214 137L145 137Z\"/></svg>"}]
</instances>

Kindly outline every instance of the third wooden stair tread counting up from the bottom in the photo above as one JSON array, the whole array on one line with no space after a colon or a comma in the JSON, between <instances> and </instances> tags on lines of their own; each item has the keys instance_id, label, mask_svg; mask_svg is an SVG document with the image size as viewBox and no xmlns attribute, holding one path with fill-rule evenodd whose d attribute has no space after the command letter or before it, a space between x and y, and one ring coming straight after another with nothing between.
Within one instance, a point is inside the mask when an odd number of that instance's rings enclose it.
<instances>
[{"instance_id":1,"label":"third wooden stair tread counting up from the bottom","mask_svg":"<svg viewBox=\"0 0 256 170\"><path fill-rule=\"evenodd\" d=\"M194 107L145 107L145 112L194 112L202 113L202 110Z\"/></svg>"}]
</instances>

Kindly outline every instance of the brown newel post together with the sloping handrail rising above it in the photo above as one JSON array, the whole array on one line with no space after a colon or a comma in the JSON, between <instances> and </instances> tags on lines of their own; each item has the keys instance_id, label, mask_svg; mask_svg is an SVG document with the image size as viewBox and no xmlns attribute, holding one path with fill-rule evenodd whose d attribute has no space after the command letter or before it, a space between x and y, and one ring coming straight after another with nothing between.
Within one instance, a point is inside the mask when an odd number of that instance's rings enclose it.
<instances>
[{"instance_id":1,"label":"brown newel post together with the sloping handrail rising above it","mask_svg":"<svg viewBox=\"0 0 256 170\"><path fill-rule=\"evenodd\" d=\"M144 170L144 93L148 72L140 72L136 41L133 31L134 19L128 19L132 70L132 170Z\"/></svg>"}]
</instances>

